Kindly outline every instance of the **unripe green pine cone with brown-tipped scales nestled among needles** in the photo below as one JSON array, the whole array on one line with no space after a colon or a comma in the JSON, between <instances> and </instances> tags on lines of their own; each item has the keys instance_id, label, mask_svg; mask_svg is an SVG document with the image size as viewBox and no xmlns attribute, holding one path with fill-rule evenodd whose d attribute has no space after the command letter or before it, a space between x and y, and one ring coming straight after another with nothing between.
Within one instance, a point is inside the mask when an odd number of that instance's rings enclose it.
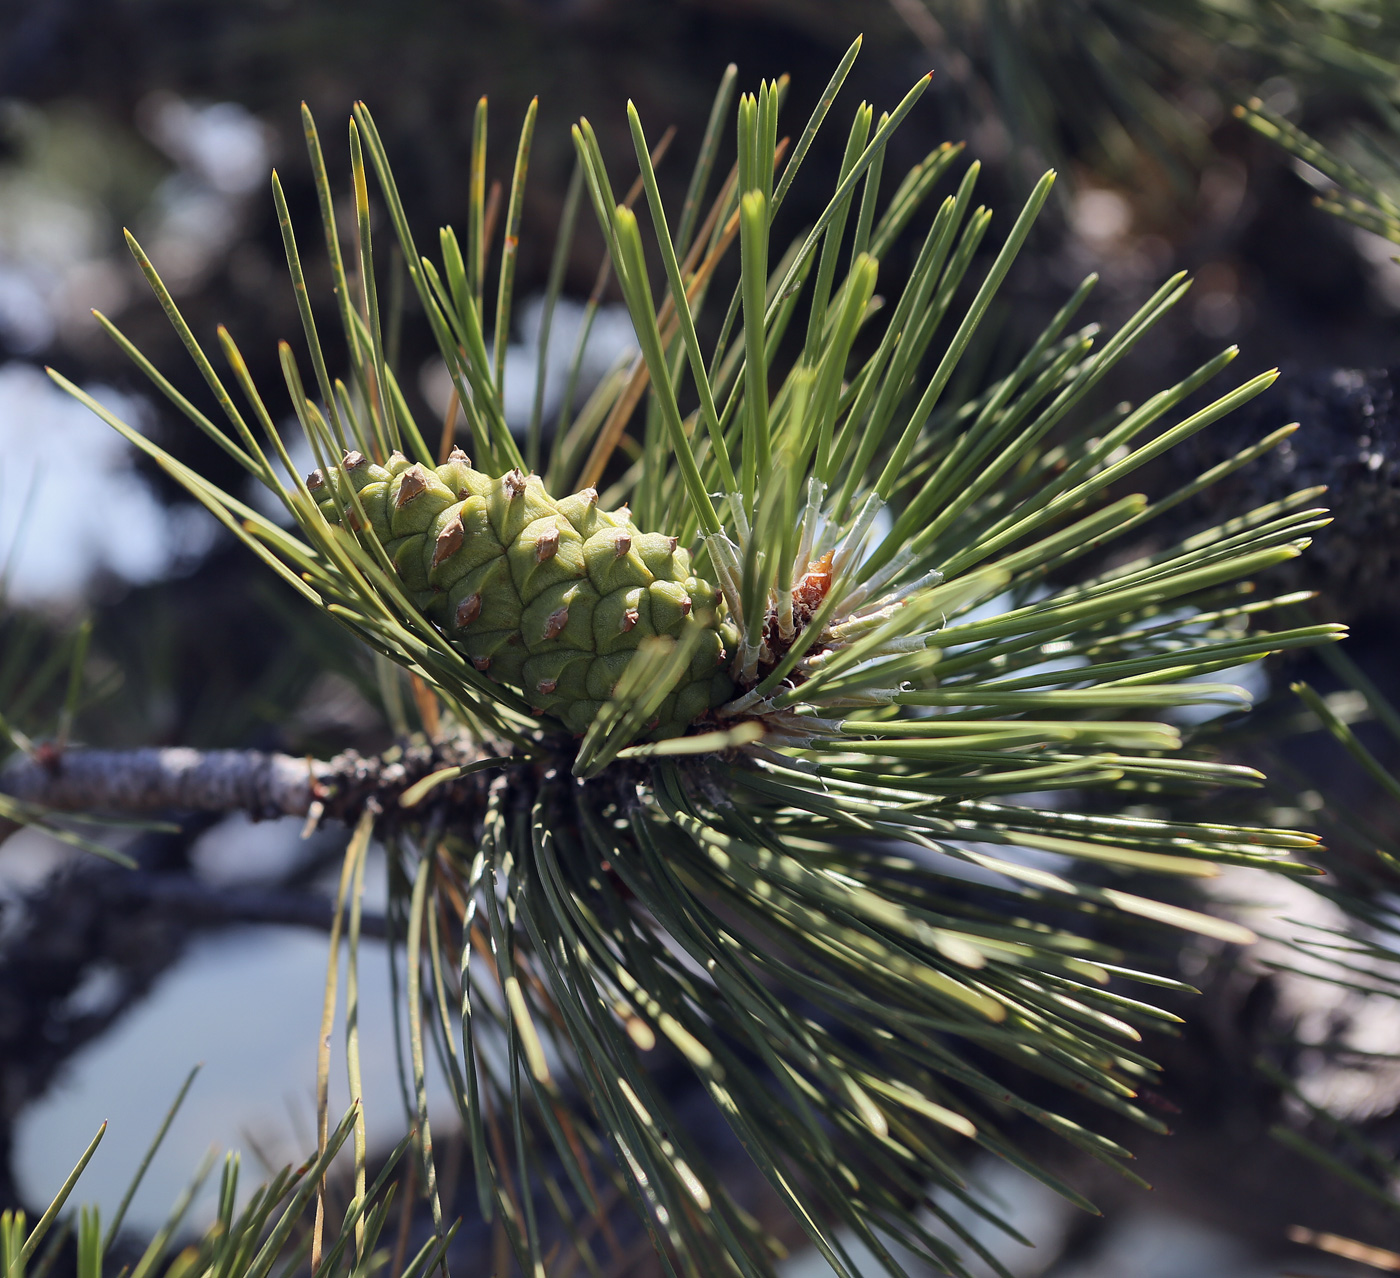
<instances>
[{"instance_id":1,"label":"unripe green pine cone with brown-tipped scales nestled among needles","mask_svg":"<svg viewBox=\"0 0 1400 1278\"><path fill-rule=\"evenodd\" d=\"M734 696L721 594L692 574L675 538L641 532L626 507L599 510L592 489L556 500L519 470L483 475L461 448L435 469L400 452L382 466L351 452L344 475L423 615L570 731L588 728L652 634L703 630L648 736L678 736ZM328 521L354 524L339 470L307 484Z\"/></svg>"}]
</instances>

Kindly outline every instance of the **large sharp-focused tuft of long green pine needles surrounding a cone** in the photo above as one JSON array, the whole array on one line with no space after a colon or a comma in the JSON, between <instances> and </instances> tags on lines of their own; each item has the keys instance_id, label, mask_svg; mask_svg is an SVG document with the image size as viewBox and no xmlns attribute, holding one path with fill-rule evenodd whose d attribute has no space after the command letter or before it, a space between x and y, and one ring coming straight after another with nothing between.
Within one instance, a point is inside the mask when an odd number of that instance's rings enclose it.
<instances>
[{"instance_id":1,"label":"large sharp-focused tuft of long green pine needles surrounding a cone","mask_svg":"<svg viewBox=\"0 0 1400 1278\"><path fill-rule=\"evenodd\" d=\"M1226 350L1105 414L1096 388L1189 286L1168 280L1100 335L1077 323L1089 279L990 385L967 391L960 361L1053 175L1014 218L976 204L977 164L958 146L892 181L886 144L921 80L888 113L855 108L825 211L776 242L774 217L855 55L783 143L785 81L739 97L731 115L731 69L679 209L661 197L634 111L626 158L605 158L580 120L546 316L587 200L640 354L552 434L539 395L518 441L503 396L535 109L493 263L484 101L466 232L444 228L435 259L414 244L363 105L350 125L356 227L342 238L307 115L335 342L322 343L273 179L305 339L283 344L281 364L316 456L309 479L234 336L218 333L220 372L132 242L221 420L104 328L267 486L286 524L59 378L412 687L444 764L393 810L365 806L333 943L349 945L354 973L378 838L407 956L420 1183L438 1209L431 1054L482 1211L526 1274L554 1272L561 1236L598 1272L609 1232L594 1222L617 1198L672 1272L773 1272L771 1242L673 1111L661 1064L690 1072L836 1272L853 1274L851 1235L892 1272L890 1235L963 1272L979 1244L951 1207L987 1212L958 1170L973 1146L1084 1202L1018 1153L1015 1121L1131 1174L1126 1149L1047 1109L1030 1075L1161 1128L1138 1102L1154 1079L1142 1036L1172 1019L1151 991L1176 983L1140 969L1131 942L1169 929L1247 941L1183 904L1182 880L1225 864L1305 872L1294 858L1313 844L1142 805L1259 780L1183 749L1162 719L1238 705L1245 694L1210 676L1336 637L1268 629L1289 601L1249 584L1324 522L1316 494L1074 571L1280 442L1289 428L1156 500L1120 496L1271 375L1184 412L1226 370ZM388 356L371 176L465 416L456 452L452 419L440 441L416 420ZM882 295L882 259L902 238L913 269ZM721 287L735 256L738 281ZM547 333L546 318L542 344ZM328 1015L336 995L332 983ZM354 1093L354 981L349 998ZM351 1145L363 1200L363 1125ZM357 1236L346 1254L363 1260L363 1247Z\"/></svg>"}]
</instances>

